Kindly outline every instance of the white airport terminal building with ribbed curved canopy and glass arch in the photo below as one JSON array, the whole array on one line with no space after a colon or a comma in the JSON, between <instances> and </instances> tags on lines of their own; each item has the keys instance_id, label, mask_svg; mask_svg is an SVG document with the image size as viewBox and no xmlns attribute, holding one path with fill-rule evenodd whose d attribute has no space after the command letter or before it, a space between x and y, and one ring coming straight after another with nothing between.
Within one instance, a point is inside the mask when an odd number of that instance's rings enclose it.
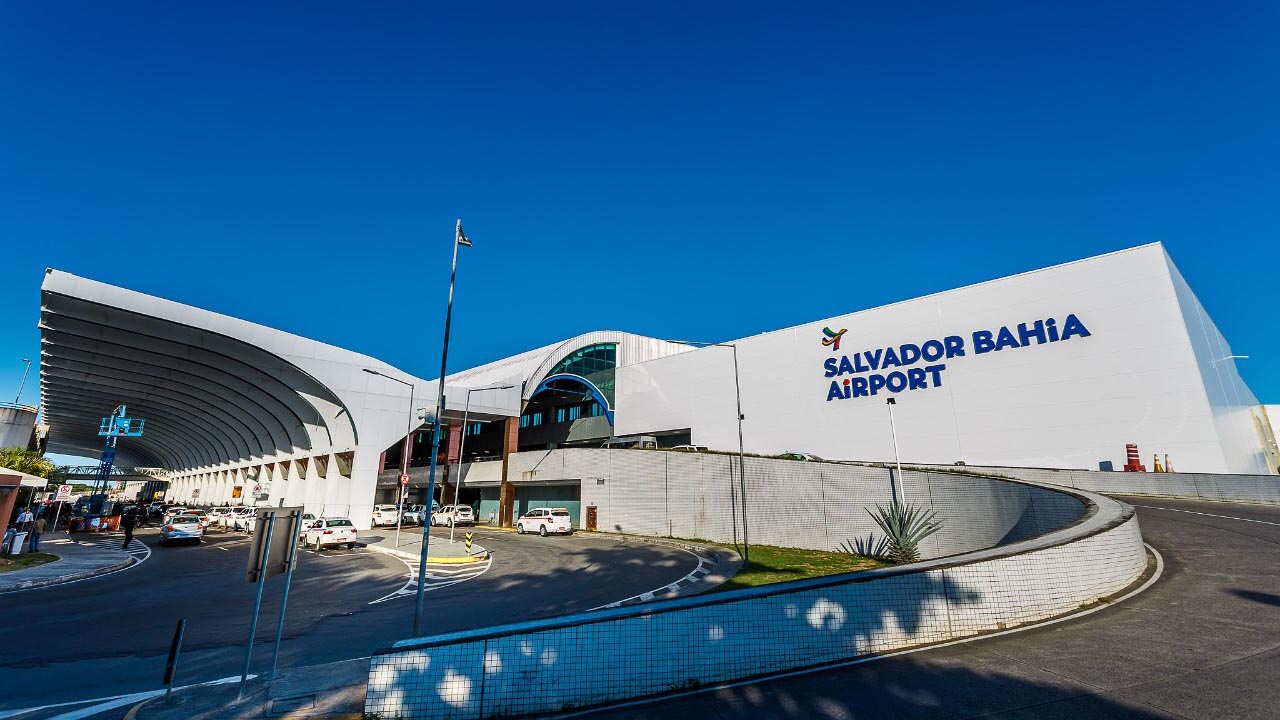
<instances>
[{"instance_id":1,"label":"white airport terminal building with ribbed curved canopy and glass arch","mask_svg":"<svg viewBox=\"0 0 1280 720\"><path fill-rule=\"evenodd\" d=\"M166 469L169 497L283 500L367 527L397 496L410 423L410 501L425 500L416 418L435 414L435 380L58 270L40 325L52 452L96 456L99 419L127 404L147 432L118 462ZM904 462L1120 470L1134 443L1148 469L1157 454L1179 471L1274 474L1266 407L1235 360L1153 243L721 346L599 331L453 373L439 478L443 500L463 478L463 501L509 523L531 503L577 510L576 487L517 455L640 437L736 452L741 432L750 454L891 461L895 430Z\"/></svg>"}]
</instances>

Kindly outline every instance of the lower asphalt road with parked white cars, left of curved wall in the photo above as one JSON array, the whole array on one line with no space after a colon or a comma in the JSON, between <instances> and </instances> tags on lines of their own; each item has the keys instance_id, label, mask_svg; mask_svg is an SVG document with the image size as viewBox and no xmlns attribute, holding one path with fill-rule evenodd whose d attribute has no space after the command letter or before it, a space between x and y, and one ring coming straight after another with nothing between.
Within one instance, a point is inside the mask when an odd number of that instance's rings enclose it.
<instances>
[{"instance_id":1,"label":"lower asphalt road with parked white cars, left of curved wall","mask_svg":"<svg viewBox=\"0 0 1280 720\"><path fill-rule=\"evenodd\" d=\"M433 542L447 537L447 529L433 532ZM6 711L160 687L179 618L187 618L187 630L178 683L239 674L255 591L243 582L248 538L224 532L211 533L204 544L156 547L151 529L137 539L154 552L136 568L4 598L0 621L10 642L0 655L0 719ZM476 542L492 551L493 564L426 596L433 633L589 610L672 583L698 565L678 548L599 536L480 530ZM410 570L404 561L366 548L300 556L280 666L367 656L408 637L413 596L375 601L402 588ZM251 671L270 666L282 584L283 578L266 584Z\"/></svg>"}]
</instances>

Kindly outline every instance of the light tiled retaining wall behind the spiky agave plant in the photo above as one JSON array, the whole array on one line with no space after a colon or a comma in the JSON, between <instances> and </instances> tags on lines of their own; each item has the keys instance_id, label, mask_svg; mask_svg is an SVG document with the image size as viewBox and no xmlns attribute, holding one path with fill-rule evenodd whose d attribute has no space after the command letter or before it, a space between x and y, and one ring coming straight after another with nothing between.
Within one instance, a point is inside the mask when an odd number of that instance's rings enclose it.
<instances>
[{"instance_id":1,"label":"light tiled retaining wall behind the spiky agave plant","mask_svg":"<svg viewBox=\"0 0 1280 720\"><path fill-rule=\"evenodd\" d=\"M922 547L942 557L1047 533L1078 520L1084 505L1043 488L947 473L744 460L748 539L754 544L837 551L879 537L868 509L895 492L933 509L942 530ZM643 536L741 539L737 456L653 450L564 448L521 452L522 482L581 480L582 507L595 505L599 529Z\"/></svg>"}]
</instances>

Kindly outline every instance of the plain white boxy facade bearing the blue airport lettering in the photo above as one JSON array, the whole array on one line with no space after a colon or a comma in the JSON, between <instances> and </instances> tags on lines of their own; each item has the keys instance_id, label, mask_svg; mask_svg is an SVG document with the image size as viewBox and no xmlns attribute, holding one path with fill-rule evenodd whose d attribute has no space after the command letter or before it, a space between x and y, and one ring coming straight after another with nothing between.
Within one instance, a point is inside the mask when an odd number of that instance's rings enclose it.
<instances>
[{"instance_id":1,"label":"plain white boxy facade bearing the blue airport lettering","mask_svg":"<svg viewBox=\"0 0 1280 720\"><path fill-rule=\"evenodd\" d=\"M748 452L893 460L893 397L902 461L1119 470L1137 443L1148 469L1275 471L1257 398L1158 243L733 345ZM737 450L732 352L620 368L617 434Z\"/></svg>"}]
</instances>

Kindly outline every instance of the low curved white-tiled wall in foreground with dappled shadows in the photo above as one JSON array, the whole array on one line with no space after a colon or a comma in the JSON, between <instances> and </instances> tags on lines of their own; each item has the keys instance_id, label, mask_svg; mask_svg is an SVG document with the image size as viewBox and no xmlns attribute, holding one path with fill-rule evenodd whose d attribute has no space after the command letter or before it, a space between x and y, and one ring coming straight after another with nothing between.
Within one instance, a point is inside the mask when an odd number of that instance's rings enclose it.
<instances>
[{"instance_id":1,"label":"low curved white-tiled wall in foreground with dappled shadows","mask_svg":"<svg viewBox=\"0 0 1280 720\"><path fill-rule=\"evenodd\" d=\"M374 656L365 711L554 714L1052 618L1146 566L1133 509L1089 501L1080 524L950 561L404 641Z\"/></svg>"}]
</instances>

